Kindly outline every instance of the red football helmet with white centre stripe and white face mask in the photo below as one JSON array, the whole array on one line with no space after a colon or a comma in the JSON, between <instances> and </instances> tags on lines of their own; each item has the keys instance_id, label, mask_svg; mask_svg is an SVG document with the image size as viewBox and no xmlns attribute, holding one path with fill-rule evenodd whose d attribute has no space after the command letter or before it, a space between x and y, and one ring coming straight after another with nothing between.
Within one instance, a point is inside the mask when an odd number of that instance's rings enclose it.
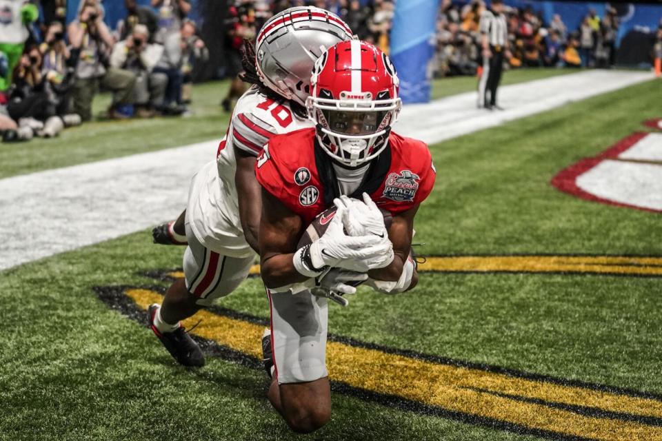
<instances>
[{"instance_id":1,"label":"red football helmet with white centre stripe and white face mask","mask_svg":"<svg viewBox=\"0 0 662 441\"><path fill-rule=\"evenodd\" d=\"M310 89L308 117L327 154L357 167L385 149L402 106L386 54L365 41L342 41L317 59Z\"/></svg>"}]
</instances>

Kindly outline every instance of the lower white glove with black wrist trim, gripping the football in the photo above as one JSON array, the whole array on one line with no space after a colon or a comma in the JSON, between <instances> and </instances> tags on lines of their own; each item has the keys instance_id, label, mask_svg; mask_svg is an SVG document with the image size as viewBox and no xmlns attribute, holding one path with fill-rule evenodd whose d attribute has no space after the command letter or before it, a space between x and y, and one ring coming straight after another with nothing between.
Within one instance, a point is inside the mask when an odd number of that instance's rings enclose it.
<instances>
[{"instance_id":1,"label":"lower white glove with black wrist trim, gripping the football","mask_svg":"<svg viewBox=\"0 0 662 441\"><path fill-rule=\"evenodd\" d=\"M364 273L391 263L393 245L390 241L374 234L348 236L343 229L344 212L344 208L339 208L321 238L294 253L292 263L300 274L317 277L327 267Z\"/></svg>"}]
</instances>

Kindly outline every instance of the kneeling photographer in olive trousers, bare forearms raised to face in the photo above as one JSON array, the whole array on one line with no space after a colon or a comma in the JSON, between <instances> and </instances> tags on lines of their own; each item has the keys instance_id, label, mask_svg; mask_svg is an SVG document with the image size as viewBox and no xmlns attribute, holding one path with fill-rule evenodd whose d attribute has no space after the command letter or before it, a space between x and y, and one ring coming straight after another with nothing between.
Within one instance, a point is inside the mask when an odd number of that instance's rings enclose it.
<instances>
[{"instance_id":1,"label":"kneeling photographer in olive trousers, bare forearms raised to face","mask_svg":"<svg viewBox=\"0 0 662 441\"><path fill-rule=\"evenodd\" d=\"M68 34L72 48L79 54L72 85L74 112L83 121L90 121L92 99L101 85L113 92L108 118L124 118L117 108L132 104L136 77L128 70L108 65L108 48L114 45L114 38L106 23L103 23L103 14L96 0L81 2L78 19L70 23Z\"/></svg>"}]
</instances>

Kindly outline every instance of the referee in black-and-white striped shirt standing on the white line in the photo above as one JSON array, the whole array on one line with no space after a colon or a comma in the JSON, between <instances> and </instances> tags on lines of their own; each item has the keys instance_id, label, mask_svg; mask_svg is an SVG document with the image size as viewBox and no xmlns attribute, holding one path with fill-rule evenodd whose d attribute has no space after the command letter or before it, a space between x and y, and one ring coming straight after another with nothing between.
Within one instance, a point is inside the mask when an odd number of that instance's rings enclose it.
<instances>
[{"instance_id":1,"label":"referee in black-and-white striped shirt standing on the white line","mask_svg":"<svg viewBox=\"0 0 662 441\"><path fill-rule=\"evenodd\" d=\"M510 59L508 50L508 23L503 14L501 0L492 0L490 9L481 14L481 45L483 48L483 74L478 86L478 107L503 110L496 105L496 88L501 81L503 57Z\"/></svg>"}]
</instances>

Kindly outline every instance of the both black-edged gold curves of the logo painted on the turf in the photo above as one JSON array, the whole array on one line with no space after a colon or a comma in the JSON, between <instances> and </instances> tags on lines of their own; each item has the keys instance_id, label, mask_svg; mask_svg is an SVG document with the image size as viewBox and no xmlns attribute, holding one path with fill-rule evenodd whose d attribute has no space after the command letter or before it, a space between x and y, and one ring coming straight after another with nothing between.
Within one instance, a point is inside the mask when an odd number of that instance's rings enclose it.
<instances>
[{"instance_id":1,"label":"both black-edged gold curves of the logo painted on the turf","mask_svg":"<svg viewBox=\"0 0 662 441\"><path fill-rule=\"evenodd\" d=\"M662 256L429 256L419 270L661 277ZM251 274L259 274L257 265ZM146 275L157 280L183 277L181 270ZM154 302L163 302L165 288L114 286L94 291L108 307L146 326L146 310ZM183 325L188 329L197 325L191 334L206 356L263 369L260 340L268 326L267 308L263 317L257 317L214 306ZM163 359L170 360L165 351ZM662 396L654 393L333 334L328 339L327 362L335 391L402 411L554 440L662 441Z\"/></svg>"}]
</instances>

